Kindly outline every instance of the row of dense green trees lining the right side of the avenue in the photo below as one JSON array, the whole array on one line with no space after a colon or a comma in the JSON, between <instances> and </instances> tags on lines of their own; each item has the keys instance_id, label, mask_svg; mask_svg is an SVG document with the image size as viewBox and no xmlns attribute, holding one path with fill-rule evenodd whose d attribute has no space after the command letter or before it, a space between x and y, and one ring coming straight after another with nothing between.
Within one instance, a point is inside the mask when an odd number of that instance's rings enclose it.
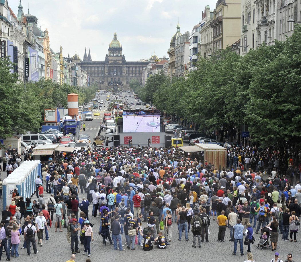
<instances>
[{"instance_id":1,"label":"row of dense green trees lining the right side of the avenue","mask_svg":"<svg viewBox=\"0 0 301 262\"><path fill-rule=\"evenodd\" d=\"M197 70L170 83L162 73L135 92L166 114L183 117L199 129L248 126L263 146L301 142L301 27L274 45L262 44L244 56L220 50L199 58Z\"/></svg>"}]
</instances>

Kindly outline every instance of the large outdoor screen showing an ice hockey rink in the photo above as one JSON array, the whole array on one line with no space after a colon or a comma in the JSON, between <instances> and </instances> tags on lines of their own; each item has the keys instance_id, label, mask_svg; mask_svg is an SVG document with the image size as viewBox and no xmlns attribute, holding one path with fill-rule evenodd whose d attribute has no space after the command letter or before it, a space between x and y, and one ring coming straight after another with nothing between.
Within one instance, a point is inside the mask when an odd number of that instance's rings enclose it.
<instances>
[{"instance_id":1,"label":"large outdoor screen showing an ice hockey rink","mask_svg":"<svg viewBox=\"0 0 301 262\"><path fill-rule=\"evenodd\" d=\"M160 110L123 111L123 133L161 132Z\"/></svg>"}]
</instances>

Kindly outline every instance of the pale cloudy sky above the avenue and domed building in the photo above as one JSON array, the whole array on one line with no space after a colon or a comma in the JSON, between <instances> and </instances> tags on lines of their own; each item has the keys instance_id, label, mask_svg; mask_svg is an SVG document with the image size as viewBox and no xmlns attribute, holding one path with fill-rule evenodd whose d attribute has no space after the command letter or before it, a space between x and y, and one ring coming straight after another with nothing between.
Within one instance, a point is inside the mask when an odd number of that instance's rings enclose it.
<instances>
[{"instance_id":1,"label":"pale cloudy sky above the avenue and domed building","mask_svg":"<svg viewBox=\"0 0 301 262\"><path fill-rule=\"evenodd\" d=\"M90 48L92 61L103 61L116 31L127 61L167 56L176 25L181 33L191 31L202 19L206 5L217 0L22 0L24 14L38 18L38 26L49 31L50 47L63 47L63 55L75 52L83 58ZM8 0L17 15L19 0Z\"/></svg>"}]
</instances>

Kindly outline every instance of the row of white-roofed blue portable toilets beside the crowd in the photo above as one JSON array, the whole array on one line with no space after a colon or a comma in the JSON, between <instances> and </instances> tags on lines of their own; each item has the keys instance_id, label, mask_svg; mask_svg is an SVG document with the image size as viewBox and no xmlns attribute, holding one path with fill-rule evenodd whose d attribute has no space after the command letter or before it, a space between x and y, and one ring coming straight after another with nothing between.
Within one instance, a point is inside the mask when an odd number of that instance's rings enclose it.
<instances>
[{"instance_id":1,"label":"row of white-roofed blue portable toilets beside the crowd","mask_svg":"<svg viewBox=\"0 0 301 262\"><path fill-rule=\"evenodd\" d=\"M31 198L36 191L35 180L41 177L41 161L24 161L7 178L3 180L3 209L11 204L14 189L17 188L19 195L25 199Z\"/></svg>"}]
</instances>

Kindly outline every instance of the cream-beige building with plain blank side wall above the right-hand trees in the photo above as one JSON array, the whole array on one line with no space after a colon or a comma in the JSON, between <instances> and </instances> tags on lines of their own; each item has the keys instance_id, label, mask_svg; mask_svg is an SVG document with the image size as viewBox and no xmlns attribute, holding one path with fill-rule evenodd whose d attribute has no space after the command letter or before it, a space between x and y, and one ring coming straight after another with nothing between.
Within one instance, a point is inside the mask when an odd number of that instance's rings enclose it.
<instances>
[{"instance_id":1,"label":"cream-beige building with plain blank side wall above the right-hand trees","mask_svg":"<svg viewBox=\"0 0 301 262\"><path fill-rule=\"evenodd\" d=\"M263 1L263 0L262 0ZM213 28L213 51L225 49L240 39L241 0L218 0L210 26Z\"/></svg>"}]
</instances>

